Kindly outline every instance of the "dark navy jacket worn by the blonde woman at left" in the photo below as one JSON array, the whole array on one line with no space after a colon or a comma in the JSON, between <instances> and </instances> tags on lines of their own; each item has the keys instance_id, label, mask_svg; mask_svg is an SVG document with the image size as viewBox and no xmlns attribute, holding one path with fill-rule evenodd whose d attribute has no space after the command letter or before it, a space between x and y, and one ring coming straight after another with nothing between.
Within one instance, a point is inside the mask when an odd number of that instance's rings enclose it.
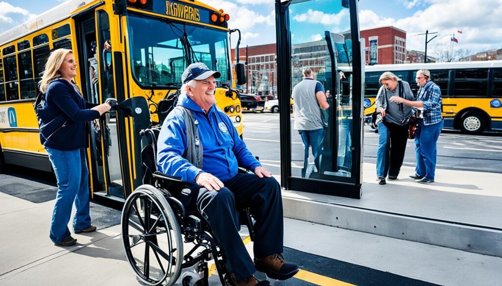
<instances>
[{"instance_id":1,"label":"dark navy jacket worn by the blonde woman at left","mask_svg":"<svg viewBox=\"0 0 502 286\"><path fill-rule=\"evenodd\" d=\"M57 79L47 87L41 105L38 116L42 145L60 151L87 147L87 122L99 118L99 111L89 110L95 104L86 102L67 80Z\"/></svg>"}]
</instances>

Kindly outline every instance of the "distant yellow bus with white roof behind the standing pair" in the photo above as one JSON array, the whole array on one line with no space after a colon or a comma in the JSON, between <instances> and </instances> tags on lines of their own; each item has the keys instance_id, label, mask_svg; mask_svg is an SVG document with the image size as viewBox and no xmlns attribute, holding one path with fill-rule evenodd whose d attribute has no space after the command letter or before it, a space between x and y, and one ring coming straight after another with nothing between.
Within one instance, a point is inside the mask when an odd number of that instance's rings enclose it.
<instances>
[{"instance_id":1,"label":"distant yellow bus with white roof behind the standing pair","mask_svg":"<svg viewBox=\"0 0 502 286\"><path fill-rule=\"evenodd\" d=\"M410 84L416 96L417 71L431 72L441 89L444 129L467 134L502 130L502 61L398 64L367 66L364 81L364 115L374 112L374 99L381 86L380 76L393 72Z\"/></svg>"}]
</instances>

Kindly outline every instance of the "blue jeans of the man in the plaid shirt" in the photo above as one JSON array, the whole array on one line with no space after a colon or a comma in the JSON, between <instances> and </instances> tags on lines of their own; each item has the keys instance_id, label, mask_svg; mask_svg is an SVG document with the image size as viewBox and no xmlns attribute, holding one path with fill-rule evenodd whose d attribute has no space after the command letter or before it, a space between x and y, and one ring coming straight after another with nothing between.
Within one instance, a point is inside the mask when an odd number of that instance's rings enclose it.
<instances>
[{"instance_id":1,"label":"blue jeans of the man in the plaid shirt","mask_svg":"<svg viewBox=\"0 0 502 286\"><path fill-rule=\"evenodd\" d=\"M424 125L422 122L420 128L415 131L415 153L417 156L415 174L428 180L434 180L437 141L443 125L443 120L432 125Z\"/></svg>"}]
</instances>

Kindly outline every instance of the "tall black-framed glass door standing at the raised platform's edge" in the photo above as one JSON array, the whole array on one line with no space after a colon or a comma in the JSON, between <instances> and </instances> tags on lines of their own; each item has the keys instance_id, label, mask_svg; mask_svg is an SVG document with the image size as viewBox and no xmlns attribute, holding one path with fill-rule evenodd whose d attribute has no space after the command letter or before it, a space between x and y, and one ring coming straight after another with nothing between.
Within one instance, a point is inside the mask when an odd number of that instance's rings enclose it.
<instances>
[{"instance_id":1,"label":"tall black-framed glass door standing at the raised platform's edge","mask_svg":"<svg viewBox=\"0 0 502 286\"><path fill-rule=\"evenodd\" d=\"M304 81L304 68L330 91L326 110L294 102L293 115L281 113L282 185L360 198L363 70L357 1L276 0L276 12L280 109L288 110L293 88ZM308 125L299 120L295 126L300 109L318 109L319 122ZM319 156L314 157L314 148Z\"/></svg>"}]
</instances>

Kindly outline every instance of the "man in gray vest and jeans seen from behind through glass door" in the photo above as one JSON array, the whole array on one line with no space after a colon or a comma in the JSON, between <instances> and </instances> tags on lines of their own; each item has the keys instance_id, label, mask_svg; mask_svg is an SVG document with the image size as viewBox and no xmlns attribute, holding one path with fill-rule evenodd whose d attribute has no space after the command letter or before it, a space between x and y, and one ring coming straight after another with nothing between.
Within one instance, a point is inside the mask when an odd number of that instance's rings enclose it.
<instances>
[{"instance_id":1,"label":"man in gray vest and jeans seen from behind through glass door","mask_svg":"<svg viewBox=\"0 0 502 286\"><path fill-rule=\"evenodd\" d=\"M295 102L293 127L300 133L304 147L302 177L305 177L308 167L309 146L312 146L314 164L317 171L319 171L319 157L322 142L324 141L324 123L321 118L321 109L329 108L328 96L329 91L324 93L322 84L314 80L312 70L304 68L303 81L293 89L293 100Z\"/></svg>"}]
</instances>

